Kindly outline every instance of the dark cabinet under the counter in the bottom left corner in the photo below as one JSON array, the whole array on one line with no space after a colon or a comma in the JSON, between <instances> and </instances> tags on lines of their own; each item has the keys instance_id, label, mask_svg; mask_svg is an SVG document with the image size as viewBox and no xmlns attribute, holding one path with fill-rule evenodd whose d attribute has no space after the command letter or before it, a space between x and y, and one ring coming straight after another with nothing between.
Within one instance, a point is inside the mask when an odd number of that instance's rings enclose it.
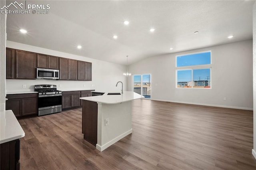
<instances>
[{"instance_id":1,"label":"dark cabinet under the counter in the bottom left corner","mask_svg":"<svg viewBox=\"0 0 256 170\"><path fill-rule=\"evenodd\" d=\"M0 144L0 169L20 169L20 139Z\"/></svg>"}]
</instances>

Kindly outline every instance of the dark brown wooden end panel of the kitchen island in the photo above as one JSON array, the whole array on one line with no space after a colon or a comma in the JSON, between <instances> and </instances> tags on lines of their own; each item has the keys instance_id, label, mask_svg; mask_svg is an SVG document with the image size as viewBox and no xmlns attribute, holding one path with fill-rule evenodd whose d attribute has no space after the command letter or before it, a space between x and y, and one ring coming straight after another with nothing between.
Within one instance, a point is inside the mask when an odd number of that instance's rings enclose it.
<instances>
[{"instance_id":1,"label":"dark brown wooden end panel of the kitchen island","mask_svg":"<svg viewBox=\"0 0 256 170\"><path fill-rule=\"evenodd\" d=\"M82 103L82 133L88 142L97 144L98 104L83 100Z\"/></svg>"}]
</instances>

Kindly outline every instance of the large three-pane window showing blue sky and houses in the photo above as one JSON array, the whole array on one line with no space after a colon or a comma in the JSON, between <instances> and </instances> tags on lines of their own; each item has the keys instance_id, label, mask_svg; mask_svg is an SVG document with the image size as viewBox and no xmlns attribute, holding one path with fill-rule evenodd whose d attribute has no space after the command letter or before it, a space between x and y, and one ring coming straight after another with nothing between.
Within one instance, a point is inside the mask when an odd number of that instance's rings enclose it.
<instances>
[{"instance_id":1,"label":"large three-pane window showing blue sky and houses","mask_svg":"<svg viewBox=\"0 0 256 170\"><path fill-rule=\"evenodd\" d=\"M176 88L211 88L211 51L176 56Z\"/></svg>"}]
</instances>

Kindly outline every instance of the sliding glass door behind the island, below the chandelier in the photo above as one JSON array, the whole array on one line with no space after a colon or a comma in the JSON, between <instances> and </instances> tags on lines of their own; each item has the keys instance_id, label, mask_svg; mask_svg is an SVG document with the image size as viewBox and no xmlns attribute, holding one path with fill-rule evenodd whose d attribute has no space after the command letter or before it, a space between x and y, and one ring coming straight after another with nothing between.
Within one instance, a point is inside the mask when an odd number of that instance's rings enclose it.
<instances>
[{"instance_id":1,"label":"sliding glass door behind the island, below the chandelier","mask_svg":"<svg viewBox=\"0 0 256 170\"><path fill-rule=\"evenodd\" d=\"M151 74L134 75L133 91L145 98L151 98Z\"/></svg>"}]
</instances>

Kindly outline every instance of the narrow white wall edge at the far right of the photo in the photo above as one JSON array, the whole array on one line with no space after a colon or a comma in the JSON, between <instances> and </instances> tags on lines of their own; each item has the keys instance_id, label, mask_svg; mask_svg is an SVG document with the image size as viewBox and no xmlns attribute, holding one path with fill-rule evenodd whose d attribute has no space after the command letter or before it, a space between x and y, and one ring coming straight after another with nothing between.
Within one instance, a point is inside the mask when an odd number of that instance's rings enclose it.
<instances>
[{"instance_id":1,"label":"narrow white wall edge at the far right of the photo","mask_svg":"<svg viewBox=\"0 0 256 170\"><path fill-rule=\"evenodd\" d=\"M253 5L253 150L256 159L256 2Z\"/></svg>"}]
</instances>

